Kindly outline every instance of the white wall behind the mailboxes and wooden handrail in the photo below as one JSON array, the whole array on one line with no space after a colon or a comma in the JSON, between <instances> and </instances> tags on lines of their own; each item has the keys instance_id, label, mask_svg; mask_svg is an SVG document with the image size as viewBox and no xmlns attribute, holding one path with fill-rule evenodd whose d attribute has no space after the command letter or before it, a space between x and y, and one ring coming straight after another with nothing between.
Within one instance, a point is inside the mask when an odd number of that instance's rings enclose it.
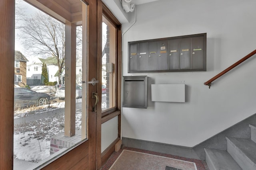
<instances>
[{"instance_id":1,"label":"white wall behind the mailboxes and wooden handrail","mask_svg":"<svg viewBox=\"0 0 256 170\"><path fill-rule=\"evenodd\" d=\"M256 113L256 59L204 82L256 49L255 0L160 0L136 6L123 36L123 76L149 76L147 109L122 108L122 137L193 147ZM122 25L123 32L132 22ZM128 42L207 33L207 71L128 74ZM186 84L186 102L151 102L150 84Z\"/></svg>"}]
</instances>

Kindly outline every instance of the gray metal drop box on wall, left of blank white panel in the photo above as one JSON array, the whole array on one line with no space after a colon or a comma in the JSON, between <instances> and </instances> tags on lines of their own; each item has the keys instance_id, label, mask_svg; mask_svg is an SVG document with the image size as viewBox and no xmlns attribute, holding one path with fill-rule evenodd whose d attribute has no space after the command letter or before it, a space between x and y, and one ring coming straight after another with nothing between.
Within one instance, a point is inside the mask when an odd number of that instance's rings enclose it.
<instances>
[{"instance_id":1,"label":"gray metal drop box on wall, left of blank white panel","mask_svg":"<svg viewBox=\"0 0 256 170\"><path fill-rule=\"evenodd\" d=\"M148 77L123 76L123 107L148 107Z\"/></svg>"}]
</instances>

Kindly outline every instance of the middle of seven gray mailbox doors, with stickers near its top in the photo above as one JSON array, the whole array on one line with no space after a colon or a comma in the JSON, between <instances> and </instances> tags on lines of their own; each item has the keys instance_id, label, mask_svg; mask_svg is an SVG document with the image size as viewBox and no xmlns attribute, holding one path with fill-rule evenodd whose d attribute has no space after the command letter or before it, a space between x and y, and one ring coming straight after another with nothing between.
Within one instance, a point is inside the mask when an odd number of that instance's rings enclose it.
<instances>
[{"instance_id":1,"label":"middle of seven gray mailbox doors, with stickers near its top","mask_svg":"<svg viewBox=\"0 0 256 170\"><path fill-rule=\"evenodd\" d=\"M158 70L168 70L168 41L158 41Z\"/></svg>"}]
</instances>

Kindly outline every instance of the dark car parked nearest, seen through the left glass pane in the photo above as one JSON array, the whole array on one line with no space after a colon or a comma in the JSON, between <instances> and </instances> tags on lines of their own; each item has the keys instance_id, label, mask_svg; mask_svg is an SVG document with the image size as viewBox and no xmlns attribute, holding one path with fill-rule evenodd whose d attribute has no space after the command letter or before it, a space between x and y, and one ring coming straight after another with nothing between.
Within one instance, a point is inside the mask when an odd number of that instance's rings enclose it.
<instances>
[{"instance_id":1,"label":"dark car parked nearest, seen through the left glass pane","mask_svg":"<svg viewBox=\"0 0 256 170\"><path fill-rule=\"evenodd\" d=\"M50 104L50 96L27 88L14 88L14 107L43 106Z\"/></svg>"}]
</instances>

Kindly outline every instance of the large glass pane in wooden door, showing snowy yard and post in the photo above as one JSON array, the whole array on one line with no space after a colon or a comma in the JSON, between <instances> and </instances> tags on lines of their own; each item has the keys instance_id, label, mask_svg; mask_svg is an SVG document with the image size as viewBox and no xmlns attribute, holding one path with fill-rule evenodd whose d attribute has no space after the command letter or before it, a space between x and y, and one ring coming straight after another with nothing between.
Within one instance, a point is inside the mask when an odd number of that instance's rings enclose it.
<instances>
[{"instance_id":1,"label":"large glass pane in wooden door, showing snowy yard and post","mask_svg":"<svg viewBox=\"0 0 256 170\"><path fill-rule=\"evenodd\" d=\"M88 116L86 107L82 108L85 94L81 84L86 74L82 50L86 49L82 49L82 23L70 26L24 1L18 5L16 10L24 12L23 19L16 22L15 41L20 44L16 48L24 51L28 64L36 64L28 67L31 81L24 84L31 89L14 88L14 170L28 170L30 165L45 164L86 139ZM78 72L76 66L81 67ZM14 82L21 80L21 75L14 75ZM19 166L20 162L25 166Z\"/></svg>"}]
</instances>

